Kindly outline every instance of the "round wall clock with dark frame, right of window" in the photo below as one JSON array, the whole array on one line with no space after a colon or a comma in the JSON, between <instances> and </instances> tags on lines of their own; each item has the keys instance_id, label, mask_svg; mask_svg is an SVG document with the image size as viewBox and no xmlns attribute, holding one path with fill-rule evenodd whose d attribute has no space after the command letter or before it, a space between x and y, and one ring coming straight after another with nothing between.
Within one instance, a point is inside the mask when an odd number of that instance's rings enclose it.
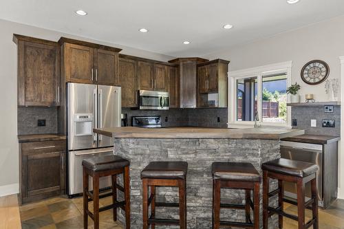
<instances>
[{"instance_id":1,"label":"round wall clock with dark frame, right of window","mask_svg":"<svg viewBox=\"0 0 344 229\"><path fill-rule=\"evenodd\" d=\"M301 78L309 85L318 85L330 74L330 67L324 61L310 61L303 66Z\"/></svg>"}]
</instances>

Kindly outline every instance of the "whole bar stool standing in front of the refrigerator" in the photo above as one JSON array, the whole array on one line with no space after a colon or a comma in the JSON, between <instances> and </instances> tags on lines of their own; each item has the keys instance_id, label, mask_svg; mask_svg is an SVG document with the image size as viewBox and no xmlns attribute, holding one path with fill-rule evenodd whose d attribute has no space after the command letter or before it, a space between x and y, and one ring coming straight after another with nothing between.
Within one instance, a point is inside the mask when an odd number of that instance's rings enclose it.
<instances>
[{"instance_id":1,"label":"whole bar stool standing in front of the refrigerator","mask_svg":"<svg viewBox=\"0 0 344 229\"><path fill-rule=\"evenodd\" d=\"M83 215L84 228L87 228L87 218L94 221L94 229L99 228L99 212L113 209L114 221L117 220L117 208L125 210L125 228L130 228L130 196L129 196L129 161L117 155L107 155L83 160ZM117 184L117 175L123 173L124 187ZM93 192L89 192L89 176L93 179ZM99 195L99 178L111 176L112 204L99 208L99 199L110 195ZM124 201L117 201L117 189L125 194ZM94 201L94 212L88 210L88 202Z\"/></svg>"}]
</instances>

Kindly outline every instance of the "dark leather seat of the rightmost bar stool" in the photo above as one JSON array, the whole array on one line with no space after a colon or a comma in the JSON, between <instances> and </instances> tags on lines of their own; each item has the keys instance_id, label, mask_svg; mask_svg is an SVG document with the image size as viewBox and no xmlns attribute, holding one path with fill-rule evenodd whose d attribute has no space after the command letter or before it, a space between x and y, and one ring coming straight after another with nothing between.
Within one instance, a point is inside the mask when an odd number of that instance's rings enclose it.
<instances>
[{"instance_id":1,"label":"dark leather seat of the rightmost bar stool","mask_svg":"<svg viewBox=\"0 0 344 229\"><path fill-rule=\"evenodd\" d=\"M283 158L266 162L261 168L273 173L281 173L294 177L307 177L319 170L319 166L316 164Z\"/></svg>"}]
</instances>

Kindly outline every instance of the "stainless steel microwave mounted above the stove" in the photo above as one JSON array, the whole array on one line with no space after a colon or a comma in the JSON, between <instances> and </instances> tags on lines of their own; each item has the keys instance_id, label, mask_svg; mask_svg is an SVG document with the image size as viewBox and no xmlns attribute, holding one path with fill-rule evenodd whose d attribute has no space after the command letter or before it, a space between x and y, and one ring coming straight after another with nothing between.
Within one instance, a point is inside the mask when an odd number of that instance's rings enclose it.
<instances>
[{"instance_id":1,"label":"stainless steel microwave mounted above the stove","mask_svg":"<svg viewBox=\"0 0 344 229\"><path fill-rule=\"evenodd\" d=\"M139 109L142 110L168 110L169 92L165 91L139 91Z\"/></svg>"}]
</instances>

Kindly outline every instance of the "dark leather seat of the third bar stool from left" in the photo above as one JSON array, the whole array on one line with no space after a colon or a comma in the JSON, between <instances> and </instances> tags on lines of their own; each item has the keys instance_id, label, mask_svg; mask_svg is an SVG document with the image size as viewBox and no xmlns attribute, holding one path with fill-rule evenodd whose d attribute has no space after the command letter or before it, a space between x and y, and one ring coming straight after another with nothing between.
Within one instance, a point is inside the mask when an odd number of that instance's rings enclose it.
<instances>
[{"instance_id":1,"label":"dark leather seat of the third bar stool from left","mask_svg":"<svg viewBox=\"0 0 344 229\"><path fill-rule=\"evenodd\" d=\"M261 175L255 169L255 166L246 162L214 162L211 173L213 173L213 179L261 182Z\"/></svg>"}]
</instances>

